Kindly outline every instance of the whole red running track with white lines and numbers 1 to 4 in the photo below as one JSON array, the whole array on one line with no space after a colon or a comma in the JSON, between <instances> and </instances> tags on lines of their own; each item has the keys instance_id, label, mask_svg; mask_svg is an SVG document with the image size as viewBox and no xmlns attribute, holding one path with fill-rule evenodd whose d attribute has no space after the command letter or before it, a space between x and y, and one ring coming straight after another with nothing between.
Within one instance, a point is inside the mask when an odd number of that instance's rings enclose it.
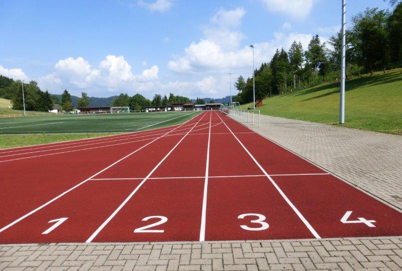
<instances>
[{"instance_id":1,"label":"whole red running track with white lines and numbers 1 to 4","mask_svg":"<svg viewBox=\"0 0 402 271\"><path fill-rule=\"evenodd\" d=\"M402 213L208 111L0 150L0 243L402 235Z\"/></svg>"}]
</instances>

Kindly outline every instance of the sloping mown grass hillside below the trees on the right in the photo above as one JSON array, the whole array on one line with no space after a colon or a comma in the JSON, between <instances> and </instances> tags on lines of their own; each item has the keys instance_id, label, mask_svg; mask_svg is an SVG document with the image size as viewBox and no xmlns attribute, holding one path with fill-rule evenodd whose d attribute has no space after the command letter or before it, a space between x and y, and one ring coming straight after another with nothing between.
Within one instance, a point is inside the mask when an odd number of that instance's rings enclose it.
<instances>
[{"instance_id":1,"label":"sloping mown grass hillside below the trees on the right","mask_svg":"<svg viewBox=\"0 0 402 271\"><path fill-rule=\"evenodd\" d=\"M265 99L261 114L338 124L339 83ZM242 105L242 108L252 104ZM346 81L345 127L402 135L402 69Z\"/></svg>"}]
</instances>

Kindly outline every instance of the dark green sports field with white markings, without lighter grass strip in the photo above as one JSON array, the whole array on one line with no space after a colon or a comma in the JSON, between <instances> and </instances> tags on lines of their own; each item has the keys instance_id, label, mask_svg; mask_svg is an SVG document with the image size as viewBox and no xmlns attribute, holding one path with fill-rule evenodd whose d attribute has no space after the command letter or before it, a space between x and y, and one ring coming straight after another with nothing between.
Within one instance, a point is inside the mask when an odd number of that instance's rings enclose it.
<instances>
[{"instance_id":1,"label":"dark green sports field with white markings, without lighter grass strip","mask_svg":"<svg viewBox=\"0 0 402 271\"><path fill-rule=\"evenodd\" d=\"M4 118L0 119L0 134L134 132L174 125L197 114L181 111Z\"/></svg>"}]
</instances>

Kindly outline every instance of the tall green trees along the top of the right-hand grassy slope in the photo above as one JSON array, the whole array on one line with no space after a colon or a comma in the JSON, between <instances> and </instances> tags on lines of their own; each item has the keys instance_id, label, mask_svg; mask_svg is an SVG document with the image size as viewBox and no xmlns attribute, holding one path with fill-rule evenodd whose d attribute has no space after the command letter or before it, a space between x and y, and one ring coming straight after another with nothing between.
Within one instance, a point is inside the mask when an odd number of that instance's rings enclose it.
<instances>
[{"instance_id":1,"label":"tall green trees along the top of the right-hand grassy slope","mask_svg":"<svg viewBox=\"0 0 402 271\"><path fill-rule=\"evenodd\" d=\"M366 9L352 17L346 30L346 75L402 66L402 3L393 11ZM268 63L262 63L255 73L255 97L266 98L293 92L301 88L340 78L342 34L339 31L328 43L319 35L312 37L307 50L294 41L286 52L276 50ZM234 83L239 93L234 101L245 103L253 100L253 78L240 76Z\"/></svg>"}]
</instances>

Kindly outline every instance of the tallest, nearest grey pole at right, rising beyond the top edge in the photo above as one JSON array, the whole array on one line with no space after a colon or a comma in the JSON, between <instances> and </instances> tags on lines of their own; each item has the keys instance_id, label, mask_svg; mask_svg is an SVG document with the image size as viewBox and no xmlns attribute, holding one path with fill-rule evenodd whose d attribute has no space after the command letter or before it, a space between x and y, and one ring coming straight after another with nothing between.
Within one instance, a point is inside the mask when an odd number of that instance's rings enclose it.
<instances>
[{"instance_id":1,"label":"tallest, nearest grey pole at right, rising beyond the top edge","mask_svg":"<svg viewBox=\"0 0 402 271\"><path fill-rule=\"evenodd\" d=\"M342 0L342 62L341 62L341 100L339 123L345 123L345 79L346 79L346 0Z\"/></svg>"}]
</instances>

